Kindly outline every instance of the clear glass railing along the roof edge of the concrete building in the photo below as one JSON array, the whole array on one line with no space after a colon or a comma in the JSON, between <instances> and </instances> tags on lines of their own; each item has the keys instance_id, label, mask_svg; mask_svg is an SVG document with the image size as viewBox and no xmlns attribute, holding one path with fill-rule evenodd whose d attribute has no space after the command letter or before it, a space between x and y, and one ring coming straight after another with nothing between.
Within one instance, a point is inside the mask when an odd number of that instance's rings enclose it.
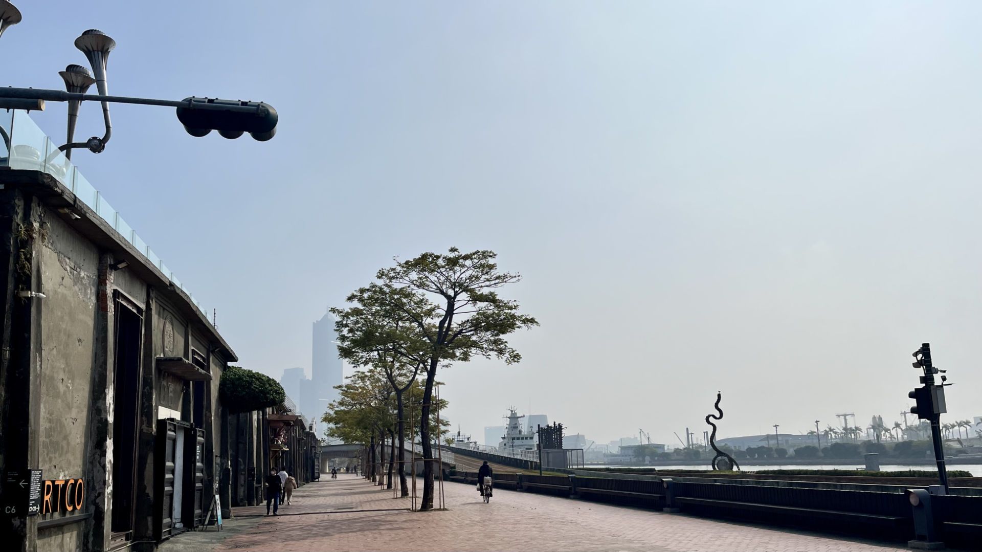
<instances>
[{"instance_id":1,"label":"clear glass railing along the roof edge of the concrete building","mask_svg":"<svg viewBox=\"0 0 982 552\"><path fill-rule=\"evenodd\" d=\"M174 277L160 257L143 242L119 211L109 204L91 184L85 180L79 169L72 164L65 154L58 150L51 138L48 138L26 111L0 110L0 167L10 167L28 171L42 171L58 180L66 188L75 193L82 203L88 205L102 220L113 227L125 241L133 245L141 255L164 273L175 288L188 294L193 304L211 323L208 311L204 306L191 297L191 292Z\"/></svg>"}]
</instances>

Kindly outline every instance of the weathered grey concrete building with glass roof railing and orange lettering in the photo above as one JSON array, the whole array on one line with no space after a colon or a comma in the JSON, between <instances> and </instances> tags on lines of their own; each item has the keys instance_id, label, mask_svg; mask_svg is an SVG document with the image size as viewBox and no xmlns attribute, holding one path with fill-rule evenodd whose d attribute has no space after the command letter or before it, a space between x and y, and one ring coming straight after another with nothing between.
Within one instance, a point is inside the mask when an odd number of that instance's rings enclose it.
<instances>
[{"instance_id":1,"label":"weathered grey concrete building with glass roof railing and orange lettering","mask_svg":"<svg viewBox=\"0 0 982 552\"><path fill-rule=\"evenodd\" d=\"M152 548L246 486L246 425L268 466L265 413L230 423L237 358L200 305L26 113L0 131L0 542Z\"/></svg>"}]
</instances>

